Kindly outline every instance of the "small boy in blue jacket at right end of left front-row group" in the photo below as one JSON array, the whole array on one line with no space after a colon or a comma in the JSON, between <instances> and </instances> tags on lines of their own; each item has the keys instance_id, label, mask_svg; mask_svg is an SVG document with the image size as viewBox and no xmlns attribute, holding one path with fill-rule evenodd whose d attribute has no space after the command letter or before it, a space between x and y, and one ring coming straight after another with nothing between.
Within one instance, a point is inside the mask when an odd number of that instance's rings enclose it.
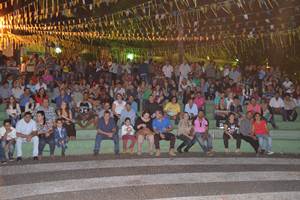
<instances>
[{"instance_id":1,"label":"small boy in blue jacket at right end of left front-row group","mask_svg":"<svg viewBox=\"0 0 300 200\"><path fill-rule=\"evenodd\" d=\"M59 118L56 120L56 128L54 129L54 140L55 145L61 148L61 156L65 156L65 151L67 149L68 143L67 130L63 127L63 119Z\"/></svg>"}]
</instances>

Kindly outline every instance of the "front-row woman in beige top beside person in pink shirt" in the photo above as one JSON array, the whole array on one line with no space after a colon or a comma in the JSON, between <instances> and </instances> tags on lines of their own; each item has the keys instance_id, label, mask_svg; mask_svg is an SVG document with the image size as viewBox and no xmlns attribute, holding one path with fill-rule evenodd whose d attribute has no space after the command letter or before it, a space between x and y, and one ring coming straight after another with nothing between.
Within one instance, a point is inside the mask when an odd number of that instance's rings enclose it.
<instances>
[{"instance_id":1,"label":"front-row woman in beige top beside person in pink shirt","mask_svg":"<svg viewBox=\"0 0 300 200\"><path fill-rule=\"evenodd\" d=\"M179 121L177 129L177 139L183 142L177 147L177 152L182 153L182 148L188 146L194 138L194 129L190 116L187 112L183 114L182 119Z\"/></svg>"}]
</instances>

